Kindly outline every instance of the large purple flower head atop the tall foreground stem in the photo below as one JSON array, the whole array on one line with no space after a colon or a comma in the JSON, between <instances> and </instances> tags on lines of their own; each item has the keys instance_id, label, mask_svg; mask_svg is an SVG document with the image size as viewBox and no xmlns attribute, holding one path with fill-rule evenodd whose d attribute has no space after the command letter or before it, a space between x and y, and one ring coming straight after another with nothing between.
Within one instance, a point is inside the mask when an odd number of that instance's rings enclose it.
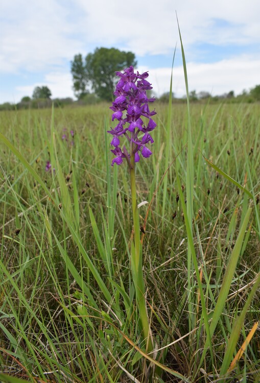
<instances>
[{"instance_id":1,"label":"large purple flower head atop the tall foreground stem","mask_svg":"<svg viewBox=\"0 0 260 383\"><path fill-rule=\"evenodd\" d=\"M114 95L115 100L110 109L113 111L112 121L117 120L119 123L116 127L108 131L113 135L111 152L115 155L112 160L114 163L121 165L123 158L127 159L130 164L131 156L134 156L134 162L139 162L140 156L138 152L145 158L151 156L152 152L147 144L153 143L153 139L148 132L151 132L156 123L151 118L156 114L155 110L150 111L148 103L154 102L154 98L148 99L146 91L152 89L151 84L145 80L148 72L143 74L134 73L133 67L130 66L124 70L124 73L116 72L116 76L120 77L116 85ZM128 153L124 147L124 151L120 148L120 136L124 135L130 142L131 153ZM128 158L129 157L129 158Z\"/></svg>"}]
</instances>

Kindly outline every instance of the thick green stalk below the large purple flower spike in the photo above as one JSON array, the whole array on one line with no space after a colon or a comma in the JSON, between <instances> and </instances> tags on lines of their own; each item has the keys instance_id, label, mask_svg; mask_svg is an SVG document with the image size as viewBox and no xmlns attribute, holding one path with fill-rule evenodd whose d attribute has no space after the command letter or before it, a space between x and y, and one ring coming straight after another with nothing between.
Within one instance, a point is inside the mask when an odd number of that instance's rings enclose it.
<instances>
[{"instance_id":1,"label":"thick green stalk below the large purple flower spike","mask_svg":"<svg viewBox=\"0 0 260 383\"><path fill-rule=\"evenodd\" d=\"M133 224L134 224L134 241L131 246L131 269L133 282L135 286L136 302L140 316L140 327L143 332L144 339L147 341L148 352L152 351L152 342L150 338L150 326L146 312L146 300L145 300L145 281L143 275L143 261L142 261L142 249L140 241L140 223L139 213L136 198L136 183L135 183L135 166L134 166L134 154L131 155L131 167L130 167L130 180L131 180L131 199L132 199L132 211L133 211Z\"/></svg>"}]
</instances>

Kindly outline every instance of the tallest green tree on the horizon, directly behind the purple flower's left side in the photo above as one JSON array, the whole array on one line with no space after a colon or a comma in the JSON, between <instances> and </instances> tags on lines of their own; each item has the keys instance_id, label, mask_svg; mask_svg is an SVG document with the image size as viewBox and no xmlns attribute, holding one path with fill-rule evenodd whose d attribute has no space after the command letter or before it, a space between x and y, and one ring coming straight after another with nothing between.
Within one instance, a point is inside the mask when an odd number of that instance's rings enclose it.
<instances>
[{"instance_id":1,"label":"tallest green tree on the horizon, directly behind the purple flower's left side","mask_svg":"<svg viewBox=\"0 0 260 383\"><path fill-rule=\"evenodd\" d=\"M134 53L115 48L97 48L86 56L85 64L82 55L76 55L71 63L75 95L78 99L84 97L90 86L100 99L111 101L118 81L115 71L130 65L137 65Z\"/></svg>"}]
</instances>

